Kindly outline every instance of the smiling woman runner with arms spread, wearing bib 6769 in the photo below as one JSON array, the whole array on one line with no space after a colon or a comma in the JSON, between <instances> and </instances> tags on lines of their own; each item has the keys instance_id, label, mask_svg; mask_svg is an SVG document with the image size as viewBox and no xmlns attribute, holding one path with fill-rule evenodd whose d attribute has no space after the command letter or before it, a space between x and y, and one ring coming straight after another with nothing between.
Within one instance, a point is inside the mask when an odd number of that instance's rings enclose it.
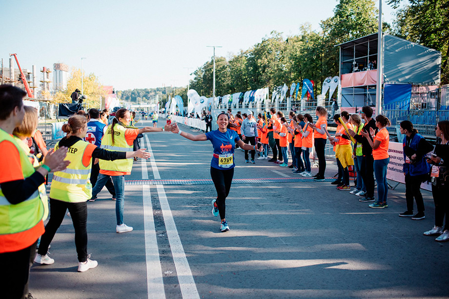
<instances>
[{"instance_id":1,"label":"smiling woman runner with arms spread, wearing bib 6769","mask_svg":"<svg viewBox=\"0 0 449 299\"><path fill-rule=\"evenodd\" d=\"M228 130L229 116L226 113L220 113L217 117L218 130L210 131L205 134L193 135L181 131L176 126L172 132L177 133L184 138L192 141L210 140L214 147L214 154L210 163L210 176L217 190L217 199L212 201L212 214L218 216L220 214L222 232L228 231L229 226L225 218L225 200L229 194L234 176L234 149L238 145L243 150L262 151L262 147L256 148L249 144L245 144L236 131Z\"/></svg>"}]
</instances>

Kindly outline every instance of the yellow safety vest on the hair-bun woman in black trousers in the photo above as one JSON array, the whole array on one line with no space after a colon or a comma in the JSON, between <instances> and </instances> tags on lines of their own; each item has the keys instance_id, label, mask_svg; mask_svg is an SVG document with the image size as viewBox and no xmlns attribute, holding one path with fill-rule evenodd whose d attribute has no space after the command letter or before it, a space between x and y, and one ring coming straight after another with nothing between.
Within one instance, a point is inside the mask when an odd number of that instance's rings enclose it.
<instances>
[{"instance_id":1,"label":"yellow safety vest on the hair-bun woman in black trousers","mask_svg":"<svg viewBox=\"0 0 449 299\"><path fill-rule=\"evenodd\" d=\"M89 142L79 140L68 148L64 160L69 160L70 164L65 170L56 171L53 174L50 198L67 203L82 203L92 197L92 184L90 183L92 158L89 165L82 164L84 151L89 145ZM57 149L59 149L59 142L55 145L55 150Z\"/></svg>"}]
</instances>

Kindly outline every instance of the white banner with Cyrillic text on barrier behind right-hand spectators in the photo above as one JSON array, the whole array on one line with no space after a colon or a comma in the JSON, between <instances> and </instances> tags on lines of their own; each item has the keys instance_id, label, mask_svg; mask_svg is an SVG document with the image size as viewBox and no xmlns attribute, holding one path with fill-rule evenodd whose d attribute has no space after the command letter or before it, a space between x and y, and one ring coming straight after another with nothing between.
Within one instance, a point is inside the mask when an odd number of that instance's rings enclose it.
<instances>
[{"instance_id":1,"label":"white banner with Cyrillic text on barrier behind right-hand spectators","mask_svg":"<svg viewBox=\"0 0 449 299\"><path fill-rule=\"evenodd\" d=\"M405 184L405 175L403 172L404 165L404 151L402 147L402 143L399 142L389 142L388 154L390 155L390 163L387 166L387 179ZM421 184L421 188L431 191L432 186L429 183Z\"/></svg>"}]
</instances>

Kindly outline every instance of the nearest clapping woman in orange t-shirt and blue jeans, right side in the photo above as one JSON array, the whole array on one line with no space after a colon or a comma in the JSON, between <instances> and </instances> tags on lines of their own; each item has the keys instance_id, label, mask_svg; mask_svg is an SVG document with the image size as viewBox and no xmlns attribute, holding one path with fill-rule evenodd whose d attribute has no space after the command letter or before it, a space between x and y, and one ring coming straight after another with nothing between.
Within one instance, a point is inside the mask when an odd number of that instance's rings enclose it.
<instances>
[{"instance_id":1,"label":"nearest clapping woman in orange t-shirt and blue jeans, right side","mask_svg":"<svg viewBox=\"0 0 449 299\"><path fill-rule=\"evenodd\" d=\"M370 128L369 133L362 131L361 134L367 138L369 145L372 148L372 156L374 159L374 176L377 182L377 202L369 205L372 208L386 208L388 207L387 196L388 196L388 185L387 185L387 166L390 161L390 156L388 155L388 145L390 141L390 136L387 131L387 127L390 125L390 121L384 115L376 116L376 127L379 129L377 134L374 136L374 130ZM368 134L373 137L368 138Z\"/></svg>"}]
</instances>

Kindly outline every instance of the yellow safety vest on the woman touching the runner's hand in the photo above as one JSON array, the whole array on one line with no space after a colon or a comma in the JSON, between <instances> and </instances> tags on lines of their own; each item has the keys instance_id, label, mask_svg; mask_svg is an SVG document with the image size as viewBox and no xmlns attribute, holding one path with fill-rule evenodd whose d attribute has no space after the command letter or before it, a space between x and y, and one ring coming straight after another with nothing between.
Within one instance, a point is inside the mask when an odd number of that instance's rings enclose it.
<instances>
[{"instance_id":1,"label":"yellow safety vest on the woman touching the runner's hand","mask_svg":"<svg viewBox=\"0 0 449 299\"><path fill-rule=\"evenodd\" d=\"M114 144L112 144L112 131L110 125L107 128L106 134L102 138L101 148L110 151L133 151L133 145L128 145L125 139L126 128L115 124L114 126ZM133 168L133 159L120 159L115 161L107 161L100 159L100 169L131 172Z\"/></svg>"}]
</instances>

